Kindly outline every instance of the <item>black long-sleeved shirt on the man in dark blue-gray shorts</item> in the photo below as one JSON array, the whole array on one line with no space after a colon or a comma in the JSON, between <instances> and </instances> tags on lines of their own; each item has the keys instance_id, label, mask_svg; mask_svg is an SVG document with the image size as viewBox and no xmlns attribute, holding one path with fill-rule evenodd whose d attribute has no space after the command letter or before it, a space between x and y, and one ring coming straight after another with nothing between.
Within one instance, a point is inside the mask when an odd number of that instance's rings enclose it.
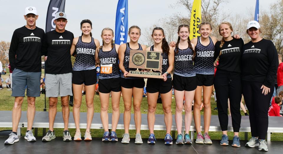
<instances>
[{"instance_id":1,"label":"black long-sleeved shirt on the man in dark blue-gray shorts","mask_svg":"<svg viewBox=\"0 0 283 154\"><path fill-rule=\"evenodd\" d=\"M41 72L41 46L44 30L23 26L14 31L9 49L11 70ZM16 57L17 55L17 57Z\"/></svg>"}]
</instances>

